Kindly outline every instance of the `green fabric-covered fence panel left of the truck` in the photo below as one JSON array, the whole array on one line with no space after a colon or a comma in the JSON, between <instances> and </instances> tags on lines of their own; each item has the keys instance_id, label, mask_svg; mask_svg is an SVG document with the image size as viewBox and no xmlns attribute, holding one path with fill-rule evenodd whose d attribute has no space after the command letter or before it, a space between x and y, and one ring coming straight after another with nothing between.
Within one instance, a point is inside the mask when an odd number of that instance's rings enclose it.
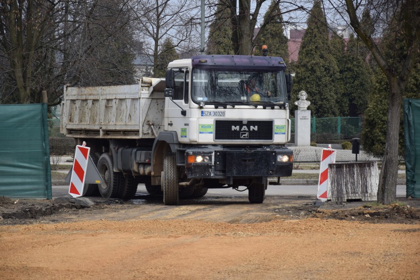
<instances>
[{"instance_id":1,"label":"green fabric-covered fence panel left of the truck","mask_svg":"<svg viewBox=\"0 0 420 280\"><path fill-rule=\"evenodd\" d=\"M0 196L51 198L47 105L0 105Z\"/></svg>"}]
</instances>

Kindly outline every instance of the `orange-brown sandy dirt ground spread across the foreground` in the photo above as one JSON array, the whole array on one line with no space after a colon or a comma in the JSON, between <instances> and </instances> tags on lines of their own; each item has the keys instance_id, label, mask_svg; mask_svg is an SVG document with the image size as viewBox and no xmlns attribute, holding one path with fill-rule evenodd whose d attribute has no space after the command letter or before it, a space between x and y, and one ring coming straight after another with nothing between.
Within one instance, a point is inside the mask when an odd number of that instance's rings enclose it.
<instances>
[{"instance_id":1,"label":"orange-brown sandy dirt ground spread across the foreground","mask_svg":"<svg viewBox=\"0 0 420 280\"><path fill-rule=\"evenodd\" d=\"M420 202L0 200L0 279L419 279ZM20 206L16 206L19 205ZM19 213L21 214L19 218ZM26 213L26 214L24 214ZM13 216L15 215L15 216ZM32 216L31 216L32 215Z\"/></svg>"}]
</instances>

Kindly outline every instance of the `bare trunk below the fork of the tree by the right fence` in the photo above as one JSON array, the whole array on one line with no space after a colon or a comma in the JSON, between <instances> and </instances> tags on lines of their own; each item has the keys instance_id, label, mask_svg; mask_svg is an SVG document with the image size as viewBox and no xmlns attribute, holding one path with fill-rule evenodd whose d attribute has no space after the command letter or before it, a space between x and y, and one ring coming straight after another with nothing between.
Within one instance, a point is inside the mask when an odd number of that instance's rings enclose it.
<instances>
[{"instance_id":1,"label":"bare trunk below the fork of the tree by the right fence","mask_svg":"<svg viewBox=\"0 0 420 280\"><path fill-rule=\"evenodd\" d=\"M389 107L386 126L385 154L379 176L378 203L391 204L396 200L398 177L398 137L401 117L402 90L396 77L389 81Z\"/></svg>"}]
</instances>

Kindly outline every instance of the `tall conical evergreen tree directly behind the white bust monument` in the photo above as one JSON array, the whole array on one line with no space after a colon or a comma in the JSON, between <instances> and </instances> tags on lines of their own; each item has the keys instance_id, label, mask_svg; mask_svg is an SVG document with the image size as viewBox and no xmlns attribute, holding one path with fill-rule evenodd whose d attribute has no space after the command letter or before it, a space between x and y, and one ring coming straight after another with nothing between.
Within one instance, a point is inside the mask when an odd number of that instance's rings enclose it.
<instances>
[{"instance_id":1,"label":"tall conical evergreen tree directly behind the white bust monument","mask_svg":"<svg viewBox=\"0 0 420 280\"><path fill-rule=\"evenodd\" d=\"M311 101L308 109L313 116L338 116L336 83L339 70L330 53L327 22L319 0L311 9L307 26L299 50L292 101L296 101L297 94L305 90Z\"/></svg>"}]
</instances>

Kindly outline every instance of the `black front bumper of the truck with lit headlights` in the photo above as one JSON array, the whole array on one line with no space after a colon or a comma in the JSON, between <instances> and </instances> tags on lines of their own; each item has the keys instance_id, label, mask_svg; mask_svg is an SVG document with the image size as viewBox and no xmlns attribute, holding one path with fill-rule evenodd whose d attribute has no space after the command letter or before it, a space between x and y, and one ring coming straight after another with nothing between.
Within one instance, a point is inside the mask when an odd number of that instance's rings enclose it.
<instances>
[{"instance_id":1,"label":"black front bumper of the truck with lit headlights","mask_svg":"<svg viewBox=\"0 0 420 280\"><path fill-rule=\"evenodd\" d=\"M283 177L292 175L293 151L282 146L206 146L185 150L188 178Z\"/></svg>"}]
</instances>

